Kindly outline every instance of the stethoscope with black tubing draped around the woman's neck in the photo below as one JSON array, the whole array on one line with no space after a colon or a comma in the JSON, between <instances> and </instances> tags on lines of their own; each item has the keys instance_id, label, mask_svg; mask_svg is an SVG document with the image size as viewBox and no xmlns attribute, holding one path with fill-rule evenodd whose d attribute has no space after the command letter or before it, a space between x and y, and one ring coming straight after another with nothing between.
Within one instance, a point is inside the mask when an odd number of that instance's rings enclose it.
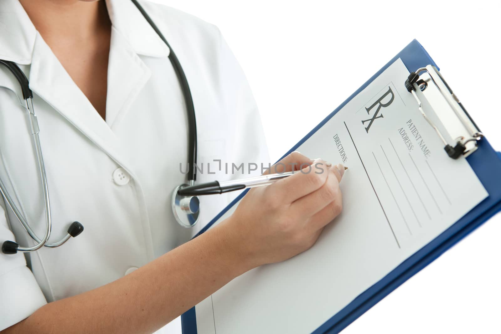
<instances>
[{"instance_id":1,"label":"stethoscope with black tubing draped around the woman's neck","mask_svg":"<svg viewBox=\"0 0 501 334\"><path fill-rule=\"evenodd\" d=\"M153 28L153 30L158 34L158 36L162 39L162 41L167 45L167 47L170 49L169 53L169 60L174 68L174 71L176 73L177 79L179 80L181 90L183 93L184 97L184 102L186 104L186 109L188 112L188 131L189 131L189 138L188 138L188 183L181 184L178 187L174 189L174 192L172 194L172 211L174 213L174 216L177 220L177 222L184 227L192 227L198 222L198 217L200 214L200 201L198 199L196 192L190 192L190 191L185 191L182 195L178 193L178 190L187 187L187 186L194 186L195 179L196 179L196 148L197 148L197 140L196 140L196 120L195 120L195 108L193 106L193 99L191 97L191 92L188 86L188 81L186 79L186 76L184 74L184 71L181 67L181 64L179 63L179 60L177 59L176 55L172 51L172 48L170 47L169 43L165 39L165 37L162 35L160 30L156 27L156 25L153 23L151 18L146 14L144 9L141 7L141 5L138 4L136 0L131 0L132 3L137 7L137 9L141 12L143 17L146 19L148 24ZM9 192L6 190L7 188L5 187L4 183L2 180L0 180L0 193L2 196L4 196L8 206L11 208L11 210L14 212L18 220L21 222L23 225L24 229L26 232L30 235L30 237L35 240L36 244L31 247L23 247L20 246L17 242L15 241L5 241L2 244L2 252L5 254L16 254L17 252L33 252L35 250L38 250L42 247L59 247L62 244L64 244L66 241L68 241L71 237L76 237L82 231L84 230L84 226L78 222L74 221L73 223L70 224L68 228L68 233L65 235L64 238L59 240L58 242L54 243L48 243L47 241L49 240L49 237L51 235L51 229L52 229L52 221L51 221L51 206L50 206L50 199L49 199L49 187L47 185L47 175L45 172L45 166L44 166L44 158L42 155L42 148L40 146L40 128L39 124L37 121L37 116L35 115L35 111L33 109L33 93L30 89L30 83L28 81L28 78L26 78L26 75L23 73L23 71L19 68L19 66L16 63L6 61L6 60L0 60L0 64L5 66L13 75L16 77L18 80L19 84L21 85L21 90L23 94L23 99L26 102L26 109L28 111L28 119L30 122L30 128L31 132L33 135L33 144L35 146L35 151L36 151L36 157L37 157L37 163L38 163L38 169L40 172L40 179L41 179L41 185L42 189L44 192L44 202L45 202L45 214L46 214L46 225L45 225L45 234L43 238L39 238L35 232L31 229L30 225L28 224L27 220L21 213L21 211L18 209L18 207L15 205L12 197L9 195Z\"/></svg>"}]
</instances>

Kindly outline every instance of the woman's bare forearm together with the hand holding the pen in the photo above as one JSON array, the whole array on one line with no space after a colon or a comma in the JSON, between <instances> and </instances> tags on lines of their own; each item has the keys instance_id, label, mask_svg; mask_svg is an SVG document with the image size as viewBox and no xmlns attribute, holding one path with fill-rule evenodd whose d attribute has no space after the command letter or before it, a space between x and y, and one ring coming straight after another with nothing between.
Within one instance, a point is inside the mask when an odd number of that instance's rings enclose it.
<instances>
[{"instance_id":1,"label":"woman's bare forearm together with the hand holding the pen","mask_svg":"<svg viewBox=\"0 0 501 334\"><path fill-rule=\"evenodd\" d=\"M344 169L297 152L281 163L271 172L305 168L250 190L228 219L193 240L111 283L50 302L2 333L152 332L243 272L310 248L341 212Z\"/></svg>"}]
</instances>

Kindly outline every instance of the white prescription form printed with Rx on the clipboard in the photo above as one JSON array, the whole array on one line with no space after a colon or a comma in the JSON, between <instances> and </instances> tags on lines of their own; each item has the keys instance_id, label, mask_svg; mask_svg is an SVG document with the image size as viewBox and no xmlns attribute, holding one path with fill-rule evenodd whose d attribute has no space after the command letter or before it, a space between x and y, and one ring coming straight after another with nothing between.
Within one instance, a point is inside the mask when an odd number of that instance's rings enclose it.
<instances>
[{"instance_id":1,"label":"white prescription form printed with Rx on the clipboard","mask_svg":"<svg viewBox=\"0 0 501 334\"><path fill-rule=\"evenodd\" d=\"M395 61L298 148L349 167L342 214L310 250L196 305L199 334L312 332L487 197L421 116L408 74Z\"/></svg>"}]
</instances>

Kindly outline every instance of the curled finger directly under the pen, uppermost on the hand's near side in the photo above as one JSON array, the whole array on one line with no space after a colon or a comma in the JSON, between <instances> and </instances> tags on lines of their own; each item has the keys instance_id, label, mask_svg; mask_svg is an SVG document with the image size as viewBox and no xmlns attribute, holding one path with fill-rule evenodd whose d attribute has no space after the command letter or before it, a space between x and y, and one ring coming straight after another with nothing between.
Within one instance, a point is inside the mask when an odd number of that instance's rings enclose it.
<instances>
[{"instance_id":1,"label":"curled finger directly under the pen, uppermost on the hand's near side","mask_svg":"<svg viewBox=\"0 0 501 334\"><path fill-rule=\"evenodd\" d=\"M272 200L283 204L293 203L322 187L327 180L329 163L320 159L287 178L268 186Z\"/></svg>"}]
</instances>

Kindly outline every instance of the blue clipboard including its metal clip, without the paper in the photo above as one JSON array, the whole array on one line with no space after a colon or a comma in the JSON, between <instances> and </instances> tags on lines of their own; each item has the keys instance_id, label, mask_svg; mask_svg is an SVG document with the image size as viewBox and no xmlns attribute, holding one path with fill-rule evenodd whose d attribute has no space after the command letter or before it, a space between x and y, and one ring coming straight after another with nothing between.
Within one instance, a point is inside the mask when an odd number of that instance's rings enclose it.
<instances>
[{"instance_id":1,"label":"blue clipboard including its metal clip, without the paper","mask_svg":"<svg viewBox=\"0 0 501 334\"><path fill-rule=\"evenodd\" d=\"M399 58L410 72L409 77L407 80L404 79L405 82L402 82L402 85L406 86L409 94L413 94L416 103L419 105L420 112L425 118L427 118L426 109L427 107L429 108L430 105L446 103L450 106L450 108L443 109L433 108L439 118L438 121L444 126L445 131L438 130L435 126L436 120L427 119L427 121L430 126L434 127L438 136L444 143L443 154L447 154L451 159L466 159L487 191L488 197L482 200L444 232L435 237L431 242L404 260L381 280L359 294L347 306L336 314L333 314L330 319L323 324L319 324L319 327L313 331L314 334L340 332L403 282L452 247L456 242L488 220L495 213L501 211L501 177L496 176L496 172L501 170L501 154L496 152L483 137L483 134L474 121L453 94L445 80L441 77L436 64L416 40L413 40L407 45L398 55L379 70L378 73L372 76L371 79L310 131L284 156L295 151ZM424 101L426 101L426 103L422 103ZM430 105L427 106L427 103ZM457 180L457 182L461 182L461 180ZM203 233L214 224L214 222L236 204L246 192L247 191L243 191L235 198L196 236ZM197 333L195 307L192 307L182 314L181 325L183 334Z\"/></svg>"}]
</instances>

